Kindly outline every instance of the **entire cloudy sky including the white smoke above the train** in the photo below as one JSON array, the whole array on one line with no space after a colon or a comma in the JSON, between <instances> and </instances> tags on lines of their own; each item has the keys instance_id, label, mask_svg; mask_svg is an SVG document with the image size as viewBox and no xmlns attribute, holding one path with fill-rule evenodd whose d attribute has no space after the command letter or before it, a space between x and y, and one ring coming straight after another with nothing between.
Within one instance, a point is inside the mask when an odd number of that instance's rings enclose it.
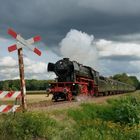
<instances>
[{"instance_id":1,"label":"entire cloudy sky including the white smoke above the train","mask_svg":"<svg viewBox=\"0 0 140 140\"><path fill-rule=\"evenodd\" d=\"M24 49L26 78L49 79L48 62L70 57L102 75L135 75L140 79L139 0L1 0L0 80L17 79L16 41L11 27L25 39L40 35L37 56Z\"/></svg>"}]
</instances>

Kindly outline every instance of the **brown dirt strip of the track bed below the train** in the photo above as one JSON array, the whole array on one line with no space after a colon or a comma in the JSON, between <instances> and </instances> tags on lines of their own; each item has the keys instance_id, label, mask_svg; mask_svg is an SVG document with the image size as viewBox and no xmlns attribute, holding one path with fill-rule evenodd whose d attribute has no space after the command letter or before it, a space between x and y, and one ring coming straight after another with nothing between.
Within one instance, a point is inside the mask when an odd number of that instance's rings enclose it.
<instances>
[{"instance_id":1,"label":"brown dirt strip of the track bed below the train","mask_svg":"<svg viewBox=\"0 0 140 140\"><path fill-rule=\"evenodd\" d=\"M107 101L107 99L111 98L117 98L120 96L123 96L124 94L119 94L119 95L112 95L112 96L105 96L105 97L78 97L78 101L72 101L72 102L67 102L67 101L62 101L62 102L52 102L48 98L47 100L42 100L40 102L34 102L30 103L28 105L28 110L29 111L51 111L51 110L61 110L61 109L67 109L67 108L75 108L78 107L81 103L98 103L102 104ZM34 96L34 95L32 95ZM30 97L32 99L34 97ZM42 97L40 97L42 98ZM49 97L50 98L50 97ZM39 97L37 98L39 99ZM44 98L45 99L45 98Z\"/></svg>"}]
</instances>

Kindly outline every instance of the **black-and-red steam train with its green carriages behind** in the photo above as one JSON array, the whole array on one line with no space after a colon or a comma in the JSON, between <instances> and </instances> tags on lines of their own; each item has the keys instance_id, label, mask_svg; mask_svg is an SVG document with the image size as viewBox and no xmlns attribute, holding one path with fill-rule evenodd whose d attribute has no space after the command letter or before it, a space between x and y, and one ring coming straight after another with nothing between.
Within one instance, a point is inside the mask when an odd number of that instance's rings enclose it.
<instances>
[{"instance_id":1,"label":"black-and-red steam train with its green carriages behind","mask_svg":"<svg viewBox=\"0 0 140 140\"><path fill-rule=\"evenodd\" d=\"M91 67L84 66L69 58L63 58L48 64L48 72L57 75L56 82L50 83L48 93L53 94L52 100L58 99L71 101L79 94L99 96L111 95L135 90L135 87L106 78Z\"/></svg>"}]
</instances>

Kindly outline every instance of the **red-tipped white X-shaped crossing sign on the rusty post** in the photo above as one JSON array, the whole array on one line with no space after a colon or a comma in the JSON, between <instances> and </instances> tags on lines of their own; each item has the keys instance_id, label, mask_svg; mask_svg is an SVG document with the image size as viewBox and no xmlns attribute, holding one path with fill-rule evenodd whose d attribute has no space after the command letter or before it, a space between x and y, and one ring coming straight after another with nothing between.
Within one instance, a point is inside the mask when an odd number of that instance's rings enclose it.
<instances>
[{"instance_id":1,"label":"red-tipped white X-shaped crossing sign on the rusty post","mask_svg":"<svg viewBox=\"0 0 140 140\"><path fill-rule=\"evenodd\" d=\"M34 47L33 43L38 42L41 40L40 36L35 36L33 38L30 38L28 40L25 40L23 37L20 36L20 34L17 34L13 29L8 29L8 34L11 35L13 38L15 38L18 42L10 47L8 47L8 51L12 52L20 48L29 48L33 52L35 52L37 55L41 56L41 51Z\"/></svg>"}]
</instances>

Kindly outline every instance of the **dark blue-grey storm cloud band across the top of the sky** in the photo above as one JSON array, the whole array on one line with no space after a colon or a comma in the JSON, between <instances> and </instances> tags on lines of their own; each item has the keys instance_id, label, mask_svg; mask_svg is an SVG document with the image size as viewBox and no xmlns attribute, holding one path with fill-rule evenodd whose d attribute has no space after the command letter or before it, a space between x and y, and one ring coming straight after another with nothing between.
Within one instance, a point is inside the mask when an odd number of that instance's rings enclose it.
<instances>
[{"instance_id":1,"label":"dark blue-grey storm cloud band across the top of the sky","mask_svg":"<svg viewBox=\"0 0 140 140\"><path fill-rule=\"evenodd\" d=\"M3 0L0 5L1 35L13 27L25 37L40 34L48 45L71 28L107 39L138 33L139 17L138 0Z\"/></svg>"}]
</instances>

